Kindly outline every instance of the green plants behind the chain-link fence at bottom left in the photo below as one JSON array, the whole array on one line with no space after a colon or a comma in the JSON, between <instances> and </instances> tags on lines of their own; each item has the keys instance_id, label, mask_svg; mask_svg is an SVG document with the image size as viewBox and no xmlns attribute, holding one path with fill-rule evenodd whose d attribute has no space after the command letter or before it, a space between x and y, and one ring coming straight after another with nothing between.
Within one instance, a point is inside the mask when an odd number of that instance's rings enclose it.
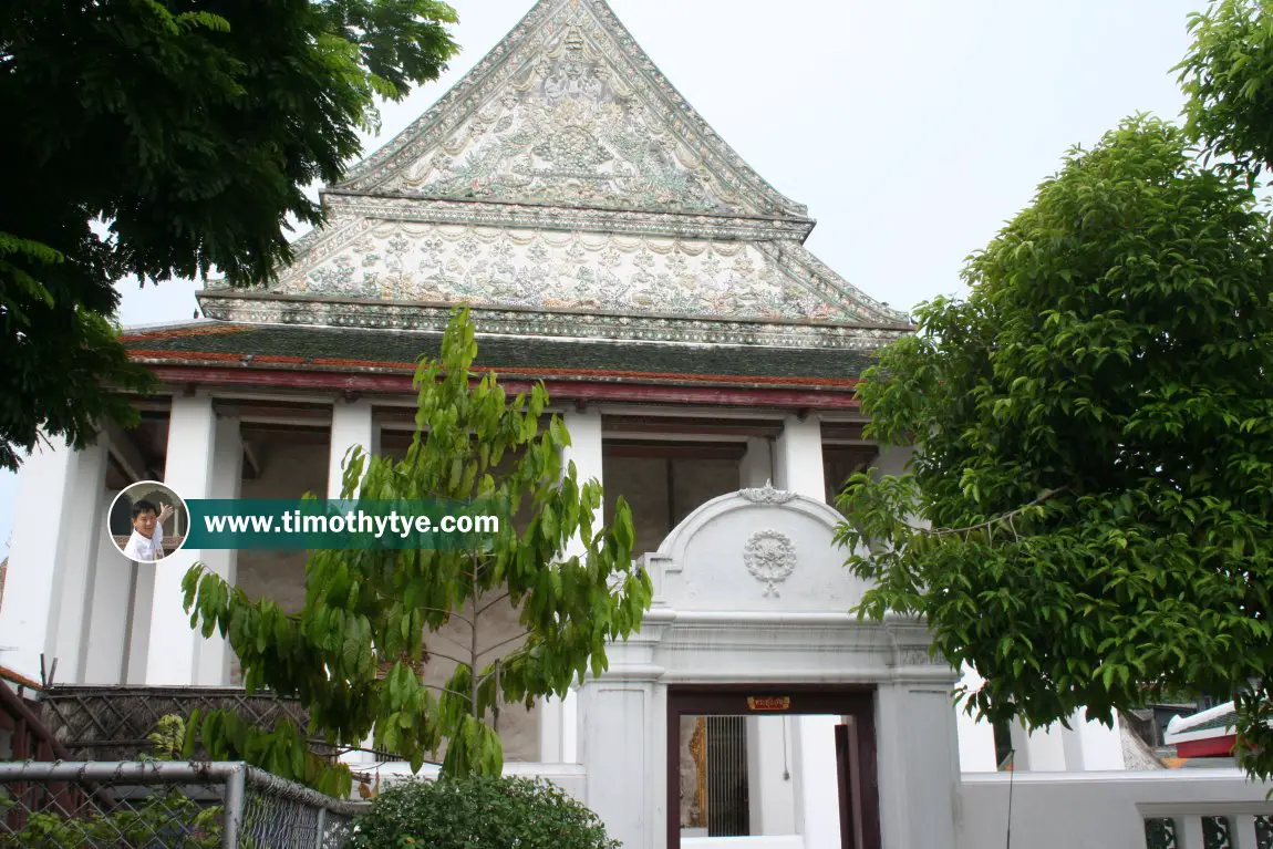
<instances>
[{"instance_id":1,"label":"green plants behind the chain-link fence at bottom left","mask_svg":"<svg viewBox=\"0 0 1273 849\"><path fill-rule=\"evenodd\" d=\"M0 801L0 808L14 806ZM33 812L22 829L0 835L0 846L61 849L62 846L153 846L162 840L172 849L219 849L223 807L200 806L172 788L135 806L94 812L84 818L48 811Z\"/></svg>"}]
</instances>

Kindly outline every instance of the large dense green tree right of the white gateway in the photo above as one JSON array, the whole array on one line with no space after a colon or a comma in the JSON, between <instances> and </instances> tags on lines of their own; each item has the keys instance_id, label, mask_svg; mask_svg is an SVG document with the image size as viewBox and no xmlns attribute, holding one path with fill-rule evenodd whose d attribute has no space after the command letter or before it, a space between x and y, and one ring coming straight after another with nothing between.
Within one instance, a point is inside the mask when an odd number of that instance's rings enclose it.
<instances>
[{"instance_id":1,"label":"large dense green tree right of the white gateway","mask_svg":"<svg viewBox=\"0 0 1273 849\"><path fill-rule=\"evenodd\" d=\"M1268 775L1273 238L1250 182L1128 120L965 279L866 374L869 433L914 453L839 502L878 582L859 612L925 616L994 720L1239 691Z\"/></svg>"}]
</instances>

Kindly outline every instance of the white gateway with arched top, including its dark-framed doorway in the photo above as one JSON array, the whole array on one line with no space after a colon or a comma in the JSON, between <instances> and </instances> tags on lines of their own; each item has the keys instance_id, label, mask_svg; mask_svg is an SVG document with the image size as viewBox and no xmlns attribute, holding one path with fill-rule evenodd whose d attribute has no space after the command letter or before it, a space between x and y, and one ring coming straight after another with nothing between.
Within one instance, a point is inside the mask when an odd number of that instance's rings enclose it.
<instances>
[{"instance_id":1,"label":"white gateway with arched top, including its dark-framed doorway","mask_svg":"<svg viewBox=\"0 0 1273 849\"><path fill-rule=\"evenodd\" d=\"M959 675L923 621L849 612L840 522L746 489L644 555L640 631L578 691L584 801L625 849L953 849Z\"/></svg>"}]
</instances>

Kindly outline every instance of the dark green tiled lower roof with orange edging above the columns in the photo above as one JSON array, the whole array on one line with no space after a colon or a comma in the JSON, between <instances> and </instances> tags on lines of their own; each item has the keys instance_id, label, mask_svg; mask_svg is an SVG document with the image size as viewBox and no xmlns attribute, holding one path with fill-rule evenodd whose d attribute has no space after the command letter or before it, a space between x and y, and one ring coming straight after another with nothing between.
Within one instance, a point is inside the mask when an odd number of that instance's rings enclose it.
<instances>
[{"instance_id":1,"label":"dark green tiled lower roof with orange edging above the columns","mask_svg":"<svg viewBox=\"0 0 1273 849\"><path fill-rule=\"evenodd\" d=\"M437 356L442 336L283 325L196 323L127 333L134 359L186 365L402 372ZM574 341L479 336L476 368L502 375L849 389L867 353L829 349Z\"/></svg>"}]
</instances>

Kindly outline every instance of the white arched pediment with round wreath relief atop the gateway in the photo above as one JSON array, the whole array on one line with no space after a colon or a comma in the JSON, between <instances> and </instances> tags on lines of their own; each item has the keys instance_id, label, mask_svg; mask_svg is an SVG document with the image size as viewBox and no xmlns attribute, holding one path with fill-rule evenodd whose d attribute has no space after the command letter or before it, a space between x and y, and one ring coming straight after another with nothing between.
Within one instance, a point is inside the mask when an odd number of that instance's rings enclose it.
<instances>
[{"instance_id":1,"label":"white arched pediment with round wreath relief atop the gateway","mask_svg":"<svg viewBox=\"0 0 1273 849\"><path fill-rule=\"evenodd\" d=\"M676 611L845 612L868 584L834 545L841 517L771 486L721 495L647 555L656 603Z\"/></svg>"}]
</instances>

